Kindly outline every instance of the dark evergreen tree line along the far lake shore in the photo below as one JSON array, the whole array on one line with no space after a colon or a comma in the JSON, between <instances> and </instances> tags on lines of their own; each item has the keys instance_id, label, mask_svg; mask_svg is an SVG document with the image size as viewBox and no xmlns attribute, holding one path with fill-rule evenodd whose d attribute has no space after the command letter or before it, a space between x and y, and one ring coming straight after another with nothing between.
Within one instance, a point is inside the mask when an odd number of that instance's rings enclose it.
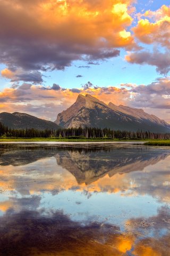
<instances>
[{"instance_id":1,"label":"dark evergreen tree line along the far lake shore","mask_svg":"<svg viewBox=\"0 0 170 256\"><path fill-rule=\"evenodd\" d=\"M102 139L170 139L170 133L153 133L149 131L114 131L108 128L79 127L57 130L38 130L33 128L11 129L0 123L0 137L14 138L102 138Z\"/></svg>"}]
</instances>

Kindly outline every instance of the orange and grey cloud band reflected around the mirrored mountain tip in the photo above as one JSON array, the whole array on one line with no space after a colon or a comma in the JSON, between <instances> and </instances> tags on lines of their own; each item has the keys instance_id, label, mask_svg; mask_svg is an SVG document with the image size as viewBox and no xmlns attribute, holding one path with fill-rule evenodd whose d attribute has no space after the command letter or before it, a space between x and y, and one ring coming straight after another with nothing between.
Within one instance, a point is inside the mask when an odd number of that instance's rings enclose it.
<instances>
[{"instance_id":1,"label":"orange and grey cloud band reflected around the mirrored mountain tip","mask_svg":"<svg viewBox=\"0 0 170 256\"><path fill-rule=\"evenodd\" d=\"M70 172L56 166L54 158L46 158L25 167L1 166L0 185L2 191L17 190L22 196L48 191L55 195L63 190L86 191L84 193L87 196L94 192L121 192L122 196L149 194L160 202L168 203L170 198L169 158L155 165L149 165L143 171L116 173L112 177L105 174L90 185L82 183L79 186Z\"/></svg>"}]
</instances>

